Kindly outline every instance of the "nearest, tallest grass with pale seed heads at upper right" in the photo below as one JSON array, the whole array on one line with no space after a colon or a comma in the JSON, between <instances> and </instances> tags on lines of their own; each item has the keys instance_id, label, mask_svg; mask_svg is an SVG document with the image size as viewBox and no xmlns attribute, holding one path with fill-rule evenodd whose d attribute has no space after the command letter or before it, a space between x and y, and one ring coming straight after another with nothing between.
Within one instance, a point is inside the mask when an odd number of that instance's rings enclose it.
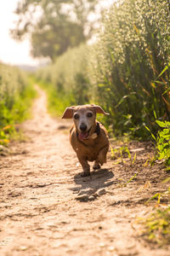
<instances>
[{"instance_id":1,"label":"nearest, tallest grass with pale seed heads at upper right","mask_svg":"<svg viewBox=\"0 0 170 256\"><path fill-rule=\"evenodd\" d=\"M144 125L155 131L156 117L169 118L169 18L163 0L119 1L103 18L94 86L121 134L144 138Z\"/></svg>"}]
</instances>

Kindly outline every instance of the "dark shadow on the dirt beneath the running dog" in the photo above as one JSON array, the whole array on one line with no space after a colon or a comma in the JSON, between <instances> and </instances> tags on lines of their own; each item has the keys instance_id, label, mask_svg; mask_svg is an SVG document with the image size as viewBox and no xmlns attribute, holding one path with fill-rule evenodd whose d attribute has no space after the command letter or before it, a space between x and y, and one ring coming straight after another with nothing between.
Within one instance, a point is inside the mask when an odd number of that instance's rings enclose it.
<instances>
[{"instance_id":1,"label":"dark shadow on the dirt beneath the running dog","mask_svg":"<svg viewBox=\"0 0 170 256\"><path fill-rule=\"evenodd\" d=\"M91 172L88 177L82 177L78 173L74 176L76 187L71 188L71 190L77 194L76 199L79 201L95 200L99 196L98 191L101 192L101 195L104 195L105 188L116 183L116 181L112 180L113 177L114 173L111 169L100 169L99 171Z\"/></svg>"}]
</instances>

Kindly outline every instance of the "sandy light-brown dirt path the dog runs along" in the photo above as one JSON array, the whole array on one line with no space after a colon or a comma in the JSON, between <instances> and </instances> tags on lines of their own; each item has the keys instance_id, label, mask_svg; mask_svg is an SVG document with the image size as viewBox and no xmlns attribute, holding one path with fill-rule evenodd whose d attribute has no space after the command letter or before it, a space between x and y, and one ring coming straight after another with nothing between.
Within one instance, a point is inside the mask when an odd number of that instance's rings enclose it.
<instances>
[{"instance_id":1,"label":"sandy light-brown dirt path the dog runs along","mask_svg":"<svg viewBox=\"0 0 170 256\"><path fill-rule=\"evenodd\" d=\"M164 176L160 166L144 166L150 148L139 145L133 166L109 160L80 177L68 129L61 129L69 124L49 117L46 96L37 90L34 119L23 125L29 139L0 158L0 255L170 255L150 247L134 224L152 208L144 201ZM120 186L135 172L132 183ZM148 180L151 188L141 190Z\"/></svg>"}]
</instances>

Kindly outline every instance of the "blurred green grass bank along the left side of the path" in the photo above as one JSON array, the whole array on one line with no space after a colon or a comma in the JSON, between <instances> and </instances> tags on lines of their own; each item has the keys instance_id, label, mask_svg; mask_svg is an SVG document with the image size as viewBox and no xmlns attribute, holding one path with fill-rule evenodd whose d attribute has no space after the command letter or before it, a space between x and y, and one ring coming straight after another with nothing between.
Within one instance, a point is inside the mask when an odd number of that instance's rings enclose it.
<instances>
[{"instance_id":1,"label":"blurred green grass bank along the left side of the path","mask_svg":"<svg viewBox=\"0 0 170 256\"><path fill-rule=\"evenodd\" d=\"M0 63L0 144L7 144L15 125L29 116L36 93L17 67Z\"/></svg>"}]
</instances>

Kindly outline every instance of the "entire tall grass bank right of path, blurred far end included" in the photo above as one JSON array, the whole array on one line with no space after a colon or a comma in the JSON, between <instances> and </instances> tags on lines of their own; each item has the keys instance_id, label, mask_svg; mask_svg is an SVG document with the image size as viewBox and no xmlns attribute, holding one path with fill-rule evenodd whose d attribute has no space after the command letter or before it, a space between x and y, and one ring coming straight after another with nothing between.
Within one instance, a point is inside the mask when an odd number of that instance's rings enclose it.
<instances>
[{"instance_id":1,"label":"entire tall grass bank right of path, blurred far end included","mask_svg":"<svg viewBox=\"0 0 170 256\"><path fill-rule=\"evenodd\" d=\"M53 84L51 107L57 97L61 106L65 98L68 105L94 102L111 113L106 125L116 135L145 139L144 125L156 132L155 119L170 115L169 18L166 0L116 1L94 46L70 49L39 71Z\"/></svg>"}]
</instances>

